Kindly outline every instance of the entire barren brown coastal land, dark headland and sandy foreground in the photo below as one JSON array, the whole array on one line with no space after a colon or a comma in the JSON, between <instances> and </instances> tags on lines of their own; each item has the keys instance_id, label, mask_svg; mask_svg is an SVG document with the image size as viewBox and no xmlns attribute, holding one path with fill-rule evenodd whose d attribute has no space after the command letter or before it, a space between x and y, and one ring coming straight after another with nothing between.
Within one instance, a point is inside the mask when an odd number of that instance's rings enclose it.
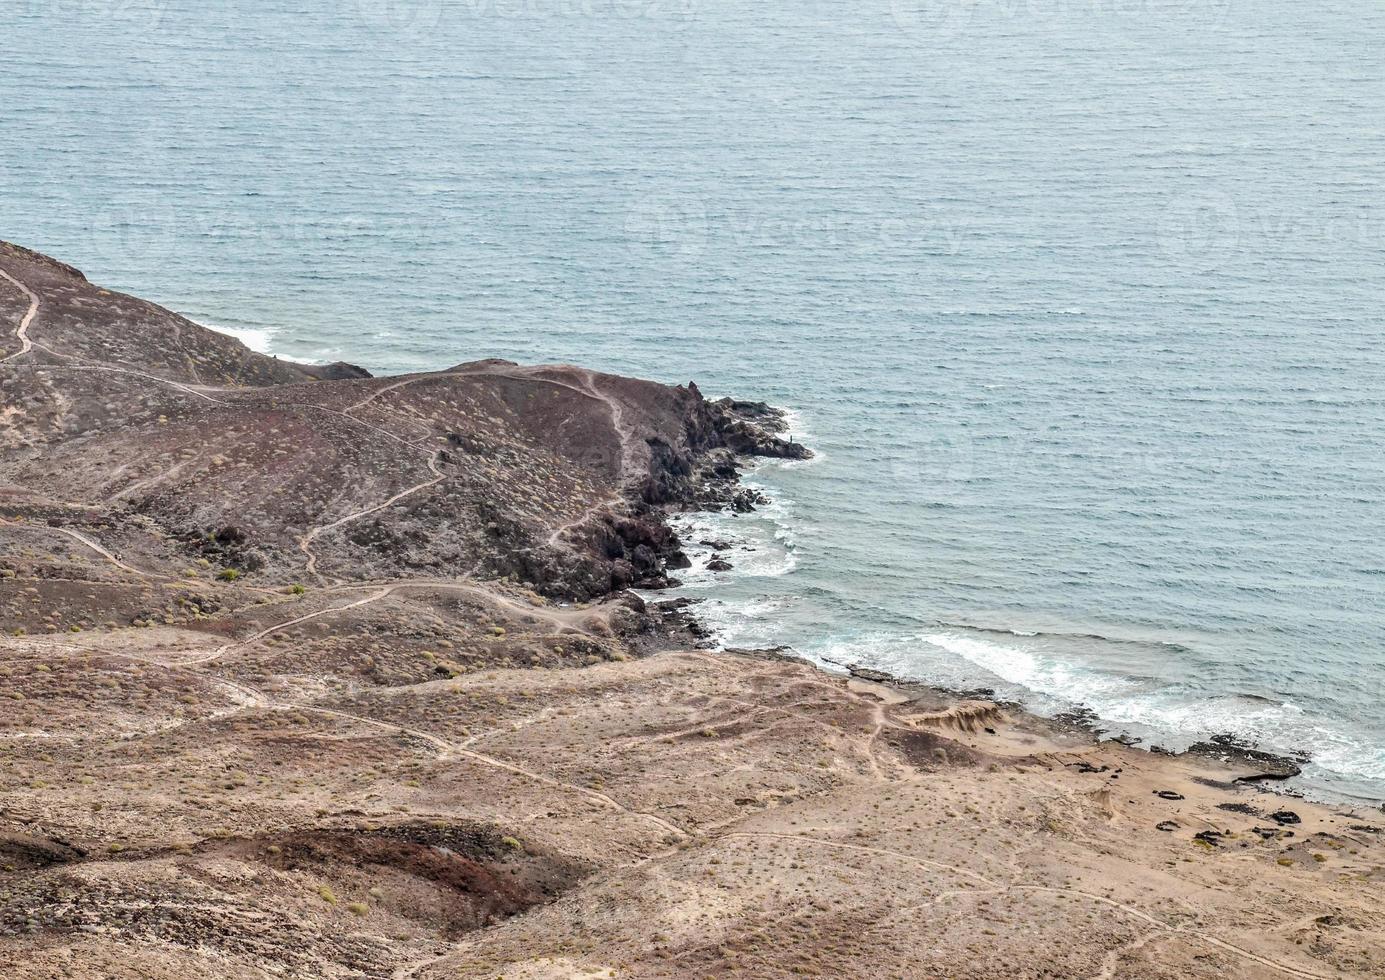
<instances>
[{"instance_id":1,"label":"entire barren brown coastal land, dark headland and sandy foreground","mask_svg":"<svg viewBox=\"0 0 1385 980\"><path fill-rule=\"evenodd\" d=\"M0 245L0 973L1385 974L1378 813L690 649L627 590L783 435L291 364Z\"/></svg>"}]
</instances>

